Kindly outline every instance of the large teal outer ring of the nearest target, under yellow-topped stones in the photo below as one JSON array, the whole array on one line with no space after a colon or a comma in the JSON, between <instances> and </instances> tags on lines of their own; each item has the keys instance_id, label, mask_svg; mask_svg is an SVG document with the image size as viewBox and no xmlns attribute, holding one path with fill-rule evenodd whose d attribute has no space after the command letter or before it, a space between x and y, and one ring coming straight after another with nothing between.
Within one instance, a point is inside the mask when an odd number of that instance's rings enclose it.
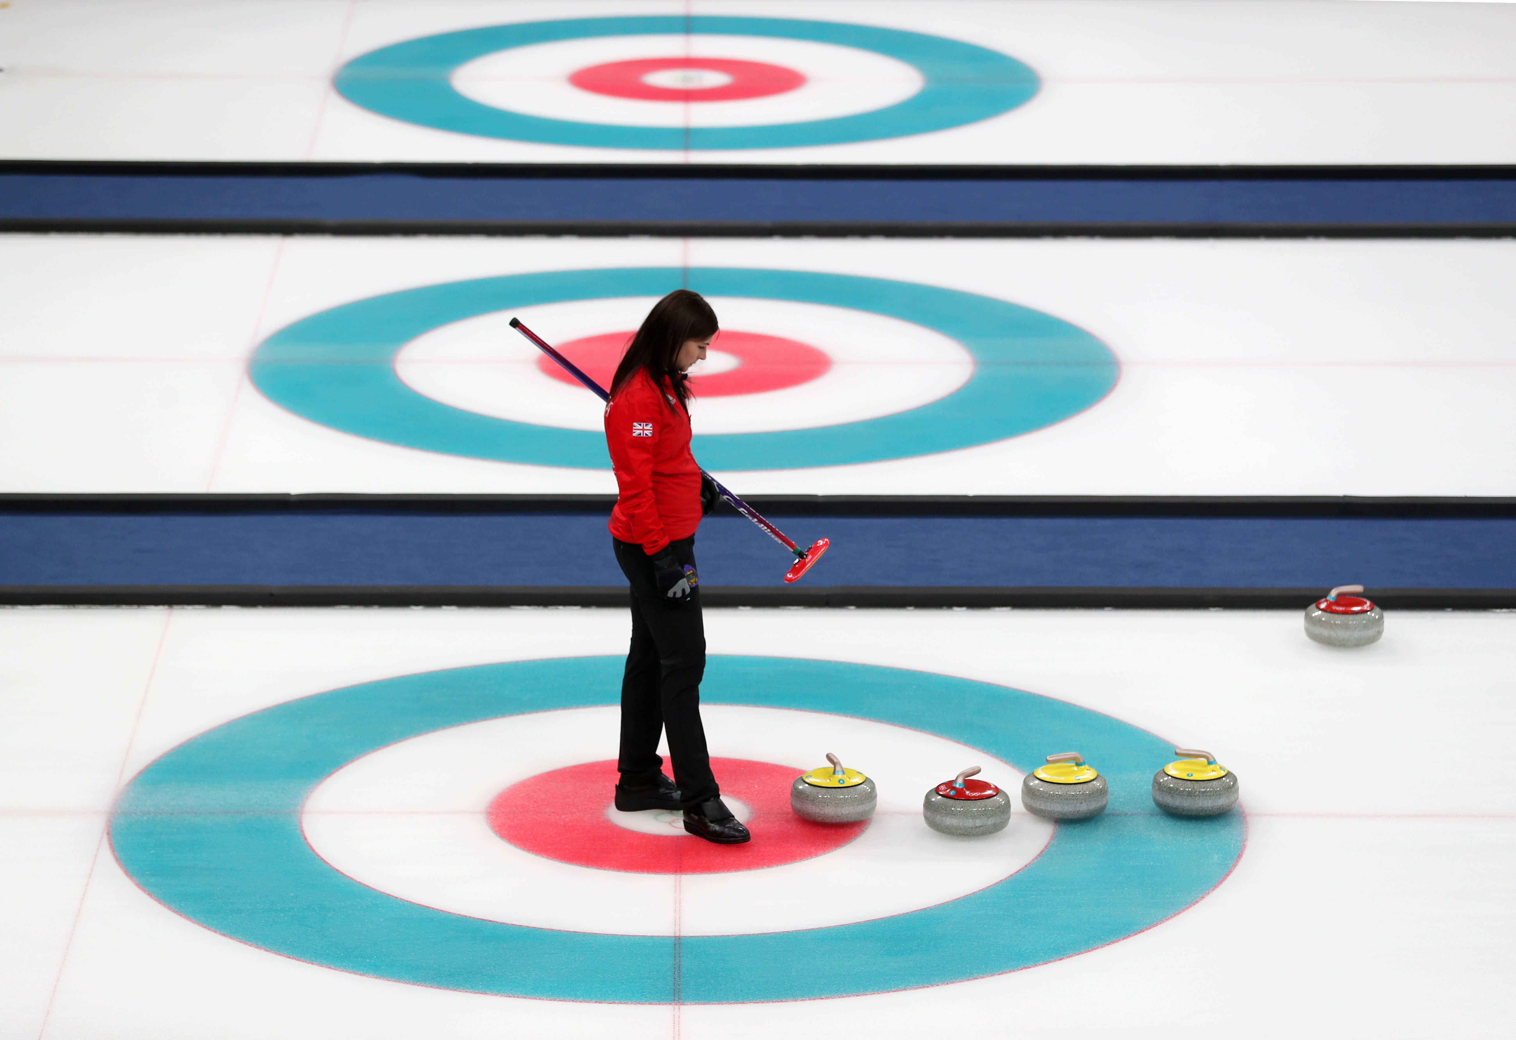
<instances>
[{"instance_id":1,"label":"large teal outer ring of the nearest target, under yellow-topped stones","mask_svg":"<svg viewBox=\"0 0 1516 1040\"><path fill-rule=\"evenodd\" d=\"M302 837L306 797L355 758L449 726L611 705L622 666L619 656L487 664L256 711L138 773L112 814L112 849L170 910L276 954L417 985L632 1004L796 1001L1014 972L1172 917L1242 855L1240 813L1154 808L1148 779L1172 744L1110 716L925 672L755 656L711 658L708 702L910 726L1028 772L1048 749L1076 746L1110 779L1110 811L1060 823L1025 869L946 904L829 928L687 935L678 951L670 937L525 928L405 902L338 873ZM817 949L846 957L817 970Z\"/></svg>"}]
</instances>

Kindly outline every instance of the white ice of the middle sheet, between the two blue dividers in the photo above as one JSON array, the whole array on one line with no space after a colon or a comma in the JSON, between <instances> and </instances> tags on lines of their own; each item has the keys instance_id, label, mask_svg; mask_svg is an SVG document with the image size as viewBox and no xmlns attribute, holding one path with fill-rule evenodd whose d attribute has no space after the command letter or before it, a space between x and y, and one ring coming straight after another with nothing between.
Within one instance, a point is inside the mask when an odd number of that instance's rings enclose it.
<instances>
[{"instance_id":1,"label":"white ice of the middle sheet, between the two blue dividers","mask_svg":"<svg viewBox=\"0 0 1516 1040\"><path fill-rule=\"evenodd\" d=\"M318 426L264 399L246 359L285 324L403 288L681 264L991 296L1092 332L1122 365L1105 400L1022 437L729 475L738 493L1516 494L1516 246L1504 241L0 237L0 487L609 493L608 471L437 455ZM561 340L632 327L641 302L626 308L520 315ZM816 309L825 321L808 324L800 305L770 314L744 302L732 314L749 332L811 338L847 364L761 405L697 402L696 432L855 420L961 379L957 347L937 334ZM864 334L890 344L879 364L850 338ZM543 421L555 403L562 426L599 426L591 394L549 379L505 337L494 318L421 337L402 376L426 368L428 393L464 408ZM434 338L441 355L428 353ZM937 382L923 382L926 370ZM520 393L481 399L512 379ZM835 393L819 391L825 381Z\"/></svg>"}]
</instances>

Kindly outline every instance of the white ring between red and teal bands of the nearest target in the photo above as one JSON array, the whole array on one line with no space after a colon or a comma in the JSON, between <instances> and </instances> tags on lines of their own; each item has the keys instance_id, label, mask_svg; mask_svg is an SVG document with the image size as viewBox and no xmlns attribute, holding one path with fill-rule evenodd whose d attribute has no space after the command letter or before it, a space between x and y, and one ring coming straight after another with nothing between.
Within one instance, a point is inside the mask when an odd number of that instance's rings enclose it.
<instances>
[{"instance_id":1,"label":"white ring between red and teal bands of the nearest target","mask_svg":"<svg viewBox=\"0 0 1516 1040\"><path fill-rule=\"evenodd\" d=\"M626 935L675 934L676 920L678 934L722 935L908 913L994 884L1052 837L1052 823L1020 811L1005 831L982 838L926 826L925 793L966 761L982 763L1004 788L1020 784L1008 764L964 744L810 711L706 705L702 716L722 755L788 764L796 776L826 749L846 749L846 761L879 788L869 828L813 860L679 876L558 863L496 837L485 807L499 791L614 753L619 711L609 706L512 716L390 744L317 787L302 826L334 869L400 899L487 920ZM838 885L838 876L857 881Z\"/></svg>"}]
</instances>

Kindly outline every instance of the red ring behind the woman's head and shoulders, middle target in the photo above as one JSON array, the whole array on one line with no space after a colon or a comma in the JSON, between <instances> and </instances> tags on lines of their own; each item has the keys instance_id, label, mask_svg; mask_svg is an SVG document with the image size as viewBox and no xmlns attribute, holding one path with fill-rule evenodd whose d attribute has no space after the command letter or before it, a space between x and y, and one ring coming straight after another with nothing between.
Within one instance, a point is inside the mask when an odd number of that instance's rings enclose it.
<instances>
[{"instance_id":1,"label":"red ring behind the woman's head and shoulders, middle target","mask_svg":"<svg viewBox=\"0 0 1516 1040\"><path fill-rule=\"evenodd\" d=\"M558 352L609 390L611 376L615 374L615 365L622 361L622 353L632 335L631 332L606 332L605 335L570 340L561 344ZM716 334L711 350L734 355L741 364L731 371L714 376L691 376L690 387L697 397L731 397L788 390L826 374L832 367L832 359L816 347L758 332L722 329ZM547 355L537 359L537 367L559 382L579 385L578 379L564 371ZM700 367L696 365L694 371L700 371Z\"/></svg>"}]
</instances>

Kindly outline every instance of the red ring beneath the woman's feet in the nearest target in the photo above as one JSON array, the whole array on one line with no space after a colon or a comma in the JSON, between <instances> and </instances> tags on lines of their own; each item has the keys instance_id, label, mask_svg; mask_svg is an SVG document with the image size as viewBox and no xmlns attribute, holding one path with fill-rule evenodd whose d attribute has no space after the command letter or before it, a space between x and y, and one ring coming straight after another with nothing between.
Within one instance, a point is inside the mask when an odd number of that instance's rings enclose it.
<instances>
[{"instance_id":1,"label":"red ring beneath the woman's feet in the nearest target","mask_svg":"<svg viewBox=\"0 0 1516 1040\"><path fill-rule=\"evenodd\" d=\"M797 817L790 808L790 784L803 770L744 758L713 758L711 767L722 793L752 810L752 841L713 844L690 834L661 837L611 823L606 810L619 776L614 760L555 769L512 784L490 802L490 829L523 852L581 867L726 873L810 860L847 844L869 826Z\"/></svg>"}]
</instances>

